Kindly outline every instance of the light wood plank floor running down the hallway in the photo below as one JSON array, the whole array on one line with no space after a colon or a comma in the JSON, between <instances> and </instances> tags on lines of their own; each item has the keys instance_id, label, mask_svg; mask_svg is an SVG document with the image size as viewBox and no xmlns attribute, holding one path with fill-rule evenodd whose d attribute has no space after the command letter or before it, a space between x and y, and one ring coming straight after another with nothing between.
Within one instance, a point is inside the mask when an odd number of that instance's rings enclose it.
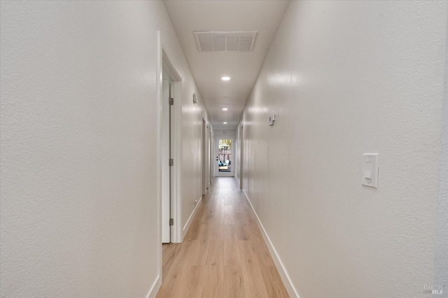
<instances>
[{"instance_id":1,"label":"light wood plank floor running down the hallway","mask_svg":"<svg viewBox=\"0 0 448 298\"><path fill-rule=\"evenodd\" d=\"M235 178L214 179L181 244L163 245L161 297L288 297Z\"/></svg>"}]
</instances>

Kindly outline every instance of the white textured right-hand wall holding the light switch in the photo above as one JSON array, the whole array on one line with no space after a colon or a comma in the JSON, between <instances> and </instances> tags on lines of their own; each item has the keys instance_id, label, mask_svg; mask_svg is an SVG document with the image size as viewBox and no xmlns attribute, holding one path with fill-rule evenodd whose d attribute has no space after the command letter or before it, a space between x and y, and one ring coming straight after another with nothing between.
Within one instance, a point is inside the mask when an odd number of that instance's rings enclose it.
<instances>
[{"instance_id":1,"label":"white textured right-hand wall holding the light switch","mask_svg":"<svg viewBox=\"0 0 448 298\"><path fill-rule=\"evenodd\" d=\"M447 4L290 2L241 124L244 191L300 297L435 282Z\"/></svg>"}]
</instances>

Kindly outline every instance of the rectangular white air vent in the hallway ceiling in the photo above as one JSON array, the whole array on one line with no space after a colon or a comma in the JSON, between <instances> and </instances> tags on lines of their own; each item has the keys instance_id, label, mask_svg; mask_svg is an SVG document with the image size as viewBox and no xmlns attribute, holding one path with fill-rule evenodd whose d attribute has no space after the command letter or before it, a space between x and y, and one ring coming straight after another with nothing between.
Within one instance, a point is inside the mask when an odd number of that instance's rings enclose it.
<instances>
[{"instance_id":1,"label":"rectangular white air vent in the hallway ceiling","mask_svg":"<svg viewBox=\"0 0 448 298\"><path fill-rule=\"evenodd\" d=\"M258 31L194 31L200 52L252 52Z\"/></svg>"}]
</instances>

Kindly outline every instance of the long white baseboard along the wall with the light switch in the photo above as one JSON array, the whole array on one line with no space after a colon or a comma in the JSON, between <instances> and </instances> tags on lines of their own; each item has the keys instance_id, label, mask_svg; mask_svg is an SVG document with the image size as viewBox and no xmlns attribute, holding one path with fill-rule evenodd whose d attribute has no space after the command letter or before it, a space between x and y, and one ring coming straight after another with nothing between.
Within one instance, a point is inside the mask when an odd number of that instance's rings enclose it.
<instances>
[{"instance_id":1,"label":"long white baseboard along the wall with the light switch","mask_svg":"<svg viewBox=\"0 0 448 298\"><path fill-rule=\"evenodd\" d=\"M267 249L269 249L269 253L271 254L272 260L274 260L276 269L279 271L281 281L283 281L286 291L288 291L288 295L290 297L300 298L299 293L297 292L297 290L295 290L293 282L291 281L291 279L289 277L288 271L286 271L286 268L284 267L283 262L281 262L281 258L279 257L277 251L275 250L275 247L272 244L271 239L269 239L269 236L267 235L267 232L266 232L265 228L263 227L263 225L260 221L260 218L258 217L257 212L253 208L251 200L249 200L248 195L247 195L246 191L244 191L244 189L243 189L243 193L246 196L246 200L247 200L249 206L251 206L251 209L252 209L253 215L255 216L255 220L257 222L258 228L260 228L262 237L263 237L263 239L265 239Z\"/></svg>"}]
</instances>

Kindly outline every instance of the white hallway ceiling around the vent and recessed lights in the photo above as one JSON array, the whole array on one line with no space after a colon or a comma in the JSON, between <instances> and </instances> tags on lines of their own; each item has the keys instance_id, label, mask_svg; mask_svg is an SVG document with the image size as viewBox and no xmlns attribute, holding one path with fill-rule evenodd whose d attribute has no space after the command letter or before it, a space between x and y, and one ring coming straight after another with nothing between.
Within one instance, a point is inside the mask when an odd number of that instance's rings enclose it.
<instances>
[{"instance_id":1,"label":"white hallway ceiling around the vent and recessed lights","mask_svg":"<svg viewBox=\"0 0 448 298\"><path fill-rule=\"evenodd\" d=\"M289 0L165 0L214 129L237 128L288 3ZM193 31L258 34L253 52L199 52ZM225 75L230 81L221 80ZM224 112L223 107L229 110Z\"/></svg>"}]
</instances>

